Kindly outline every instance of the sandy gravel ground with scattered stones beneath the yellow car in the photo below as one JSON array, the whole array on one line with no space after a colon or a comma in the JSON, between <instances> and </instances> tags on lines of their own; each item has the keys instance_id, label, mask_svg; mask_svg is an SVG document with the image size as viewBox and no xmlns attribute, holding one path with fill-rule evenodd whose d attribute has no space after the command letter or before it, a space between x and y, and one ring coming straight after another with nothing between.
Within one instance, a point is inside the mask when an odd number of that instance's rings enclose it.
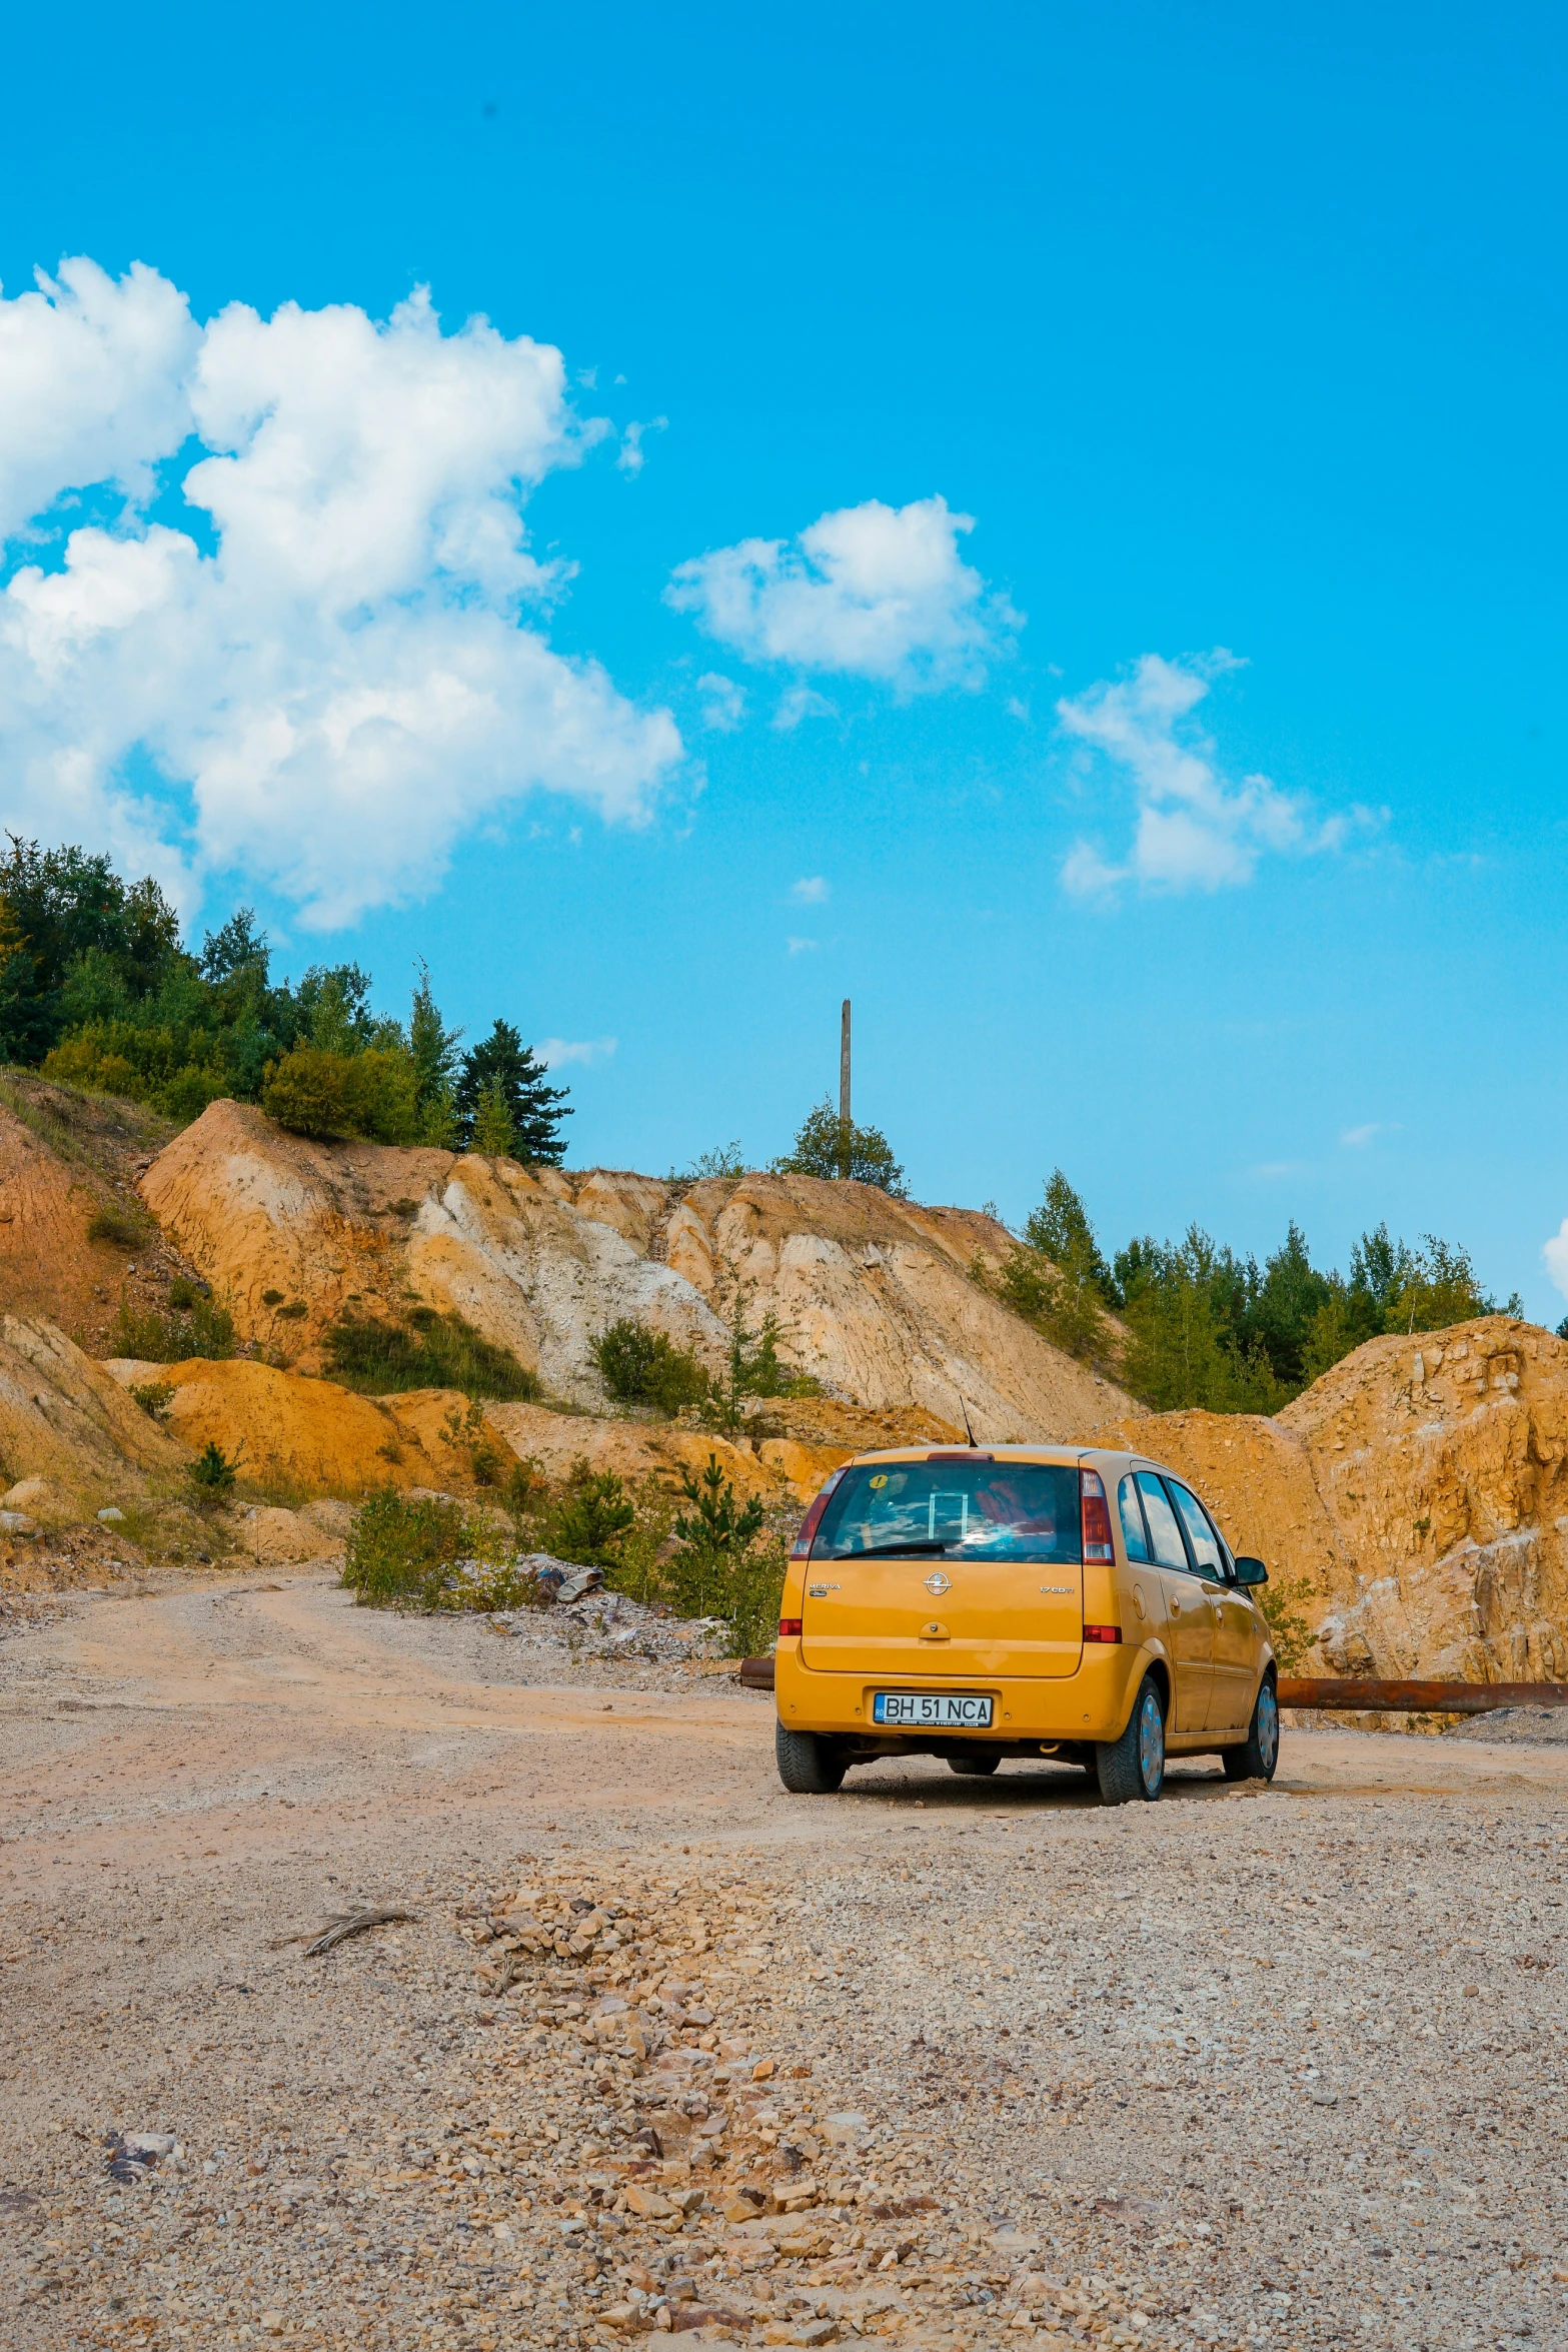
<instances>
[{"instance_id":1,"label":"sandy gravel ground with scattered stones beneath the yellow car","mask_svg":"<svg viewBox=\"0 0 1568 2352\"><path fill-rule=\"evenodd\" d=\"M1568 2343L1561 1743L811 1799L637 1679L315 1573L0 1642L2 2343ZM522 1886L621 1952L487 1997Z\"/></svg>"}]
</instances>

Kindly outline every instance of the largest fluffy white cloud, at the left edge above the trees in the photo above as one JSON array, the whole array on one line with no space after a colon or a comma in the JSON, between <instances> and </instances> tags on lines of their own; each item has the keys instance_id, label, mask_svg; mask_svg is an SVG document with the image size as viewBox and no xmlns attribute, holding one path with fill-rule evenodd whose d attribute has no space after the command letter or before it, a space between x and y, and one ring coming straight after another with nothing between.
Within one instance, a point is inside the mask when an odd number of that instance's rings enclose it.
<instances>
[{"instance_id":1,"label":"largest fluffy white cloud, at the left edge above the trees","mask_svg":"<svg viewBox=\"0 0 1568 2352\"><path fill-rule=\"evenodd\" d=\"M165 875L179 840L324 927L524 793L644 818L675 720L550 647L569 567L524 529L599 430L555 348L442 334L425 294L197 327L155 270L73 261L0 299L7 821ZM200 541L148 520L193 440ZM87 489L101 520L71 527Z\"/></svg>"}]
</instances>

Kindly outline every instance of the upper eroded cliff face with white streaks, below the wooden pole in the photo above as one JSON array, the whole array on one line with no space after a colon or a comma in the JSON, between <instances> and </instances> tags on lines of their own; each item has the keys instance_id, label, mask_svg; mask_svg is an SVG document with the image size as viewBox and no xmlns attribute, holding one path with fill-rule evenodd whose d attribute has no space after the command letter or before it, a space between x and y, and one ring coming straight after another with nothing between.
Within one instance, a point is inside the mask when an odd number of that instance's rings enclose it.
<instances>
[{"instance_id":1,"label":"upper eroded cliff face with white streaks, below the wooden pole","mask_svg":"<svg viewBox=\"0 0 1568 2352\"><path fill-rule=\"evenodd\" d=\"M971 1279L1009 1237L969 1209L922 1209L806 1176L693 1185L508 1160L308 1143L214 1103L153 1162L143 1195L247 1338L313 1369L343 1310L456 1308L545 1385L602 1404L592 1338L621 1315L715 1367L738 1296L778 1315L780 1355L830 1395L922 1411L969 1404L994 1442L1070 1437L1131 1397L1051 1348ZM268 1301L273 1294L273 1301Z\"/></svg>"}]
</instances>

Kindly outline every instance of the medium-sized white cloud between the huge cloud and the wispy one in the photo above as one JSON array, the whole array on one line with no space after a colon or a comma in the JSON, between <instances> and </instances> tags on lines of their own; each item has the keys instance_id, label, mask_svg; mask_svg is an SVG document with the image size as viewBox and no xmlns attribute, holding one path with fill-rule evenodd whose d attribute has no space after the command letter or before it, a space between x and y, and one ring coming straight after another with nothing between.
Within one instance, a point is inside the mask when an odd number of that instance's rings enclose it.
<instances>
[{"instance_id":1,"label":"medium-sized white cloud between the huge cloud and the wispy one","mask_svg":"<svg viewBox=\"0 0 1568 2352\"><path fill-rule=\"evenodd\" d=\"M797 541L693 555L665 600L748 661L872 677L900 694L978 687L1018 614L959 560L959 532L971 529L945 499L867 499L820 515Z\"/></svg>"}]
</instances>

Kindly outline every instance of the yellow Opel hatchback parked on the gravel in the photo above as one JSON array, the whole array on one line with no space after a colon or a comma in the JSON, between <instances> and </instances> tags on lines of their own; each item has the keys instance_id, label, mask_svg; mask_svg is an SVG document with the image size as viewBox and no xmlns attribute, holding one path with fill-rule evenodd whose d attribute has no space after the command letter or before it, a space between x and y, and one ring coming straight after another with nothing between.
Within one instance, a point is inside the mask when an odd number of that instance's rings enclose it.
<instances>
[{"instance_id":1,"label":"yellow Opel hatchback parked on the gravel","mask_svg":"<svg viewBox=\"0 0 1568 2352\"><path fill-rule=\"evenodd\" d=\"M820 1795L872 1757L1051 1757L1126 1804L1159 1797L1168 1755L1220 1755L1227 1778L1272 1780L1267 1573L1140 1454L860 1454L790 1555L778 1776Z\"/></svg>"}]
</instances>

